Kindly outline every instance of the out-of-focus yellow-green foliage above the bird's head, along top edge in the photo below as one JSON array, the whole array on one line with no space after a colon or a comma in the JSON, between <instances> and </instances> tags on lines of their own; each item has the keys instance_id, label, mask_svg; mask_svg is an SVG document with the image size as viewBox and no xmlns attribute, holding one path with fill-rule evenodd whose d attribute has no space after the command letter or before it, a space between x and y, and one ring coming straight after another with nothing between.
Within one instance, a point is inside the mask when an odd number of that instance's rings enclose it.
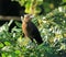
<instances>
[{"instance_id":1,"label":"out-of-focus yellow-green foliage above the bird's head, along top edge","mask_svg":"<svg viewBox=\"0 0 66 57\"><path fill-rule=\"evenodd\" d=\"M25 13L46 14L55 8L66 3L66 0L12 0L24 7Z\"/></svg>"}]
</instances>

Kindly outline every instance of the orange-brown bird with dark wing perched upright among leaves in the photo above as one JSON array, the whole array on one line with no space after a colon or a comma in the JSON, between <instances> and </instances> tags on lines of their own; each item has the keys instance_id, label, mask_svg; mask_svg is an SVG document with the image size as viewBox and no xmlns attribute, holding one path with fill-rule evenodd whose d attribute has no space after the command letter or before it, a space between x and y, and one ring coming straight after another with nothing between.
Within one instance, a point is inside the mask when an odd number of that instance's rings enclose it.
<instances>
[{"instance_id":1,"label":"orange-brown bird with dark wing perched upright among leaves","mask_svg":"<svg viewBox=\"0 0 66 57\"><path fill-rule=\"evenodd\" d=\"M33 18L32 14L24 15L24 19L22 22L22 31L25 37L30 37L32 42L34 42L35 39L37 45L40 45L43 43L43 41L36 25L31 21L32 18Z\"/></svg>"}]
</instances>

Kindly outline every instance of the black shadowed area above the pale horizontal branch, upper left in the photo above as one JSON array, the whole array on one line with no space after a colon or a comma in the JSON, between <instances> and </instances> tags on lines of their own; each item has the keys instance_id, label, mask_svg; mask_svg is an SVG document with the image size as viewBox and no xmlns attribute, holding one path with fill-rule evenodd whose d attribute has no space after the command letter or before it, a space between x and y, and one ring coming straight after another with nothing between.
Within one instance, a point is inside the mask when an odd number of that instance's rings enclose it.
<instances>
[{"instance_id":1,"label":"black shadowed area above the pale horizontal branch, upper left","mask_svg":"<svg viewBox=\"0 0 66 57\"><path fill-rule=\"evenodd\" d=\"M0 15L20 16L24 14L24 8L19 2L0 0Z\"/></svg>"}]
</instances>

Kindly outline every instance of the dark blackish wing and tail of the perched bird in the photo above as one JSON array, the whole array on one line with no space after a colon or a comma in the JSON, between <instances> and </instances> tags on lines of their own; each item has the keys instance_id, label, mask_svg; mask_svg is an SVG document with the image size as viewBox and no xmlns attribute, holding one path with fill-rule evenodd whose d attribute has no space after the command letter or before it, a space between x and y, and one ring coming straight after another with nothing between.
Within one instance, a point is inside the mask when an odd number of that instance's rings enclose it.
<instances>
[{"instance_id":1,"label":"dark blackish wing and tail of the perched bird","mask_svg":"<svg viewBox=\"0 0 66 57\"><path fill-rule=\"evenodd\" d=\"M31 23L29 25L29 36L32 39L35 38L35 41L37 42L37 44L42 44L43 43L41 34L40 34L37 27L35 26L35 24L33 24L33 23Z\"/></svg>"}]
</instances>

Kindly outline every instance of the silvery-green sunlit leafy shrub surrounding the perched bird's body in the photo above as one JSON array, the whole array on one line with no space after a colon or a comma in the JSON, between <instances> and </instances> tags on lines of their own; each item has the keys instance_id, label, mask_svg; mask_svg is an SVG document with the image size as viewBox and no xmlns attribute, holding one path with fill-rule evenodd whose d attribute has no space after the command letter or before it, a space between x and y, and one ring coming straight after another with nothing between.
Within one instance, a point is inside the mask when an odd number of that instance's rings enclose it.
<instances>
[{"instance_id":1,"label":"silvery-green sunlit leafy shrub surrounding the perched bird's body","mask_svg":"<svg viewBox=\"0 0 66 57\"><path fill-rule=\"evenodd\" d=\"M9 23L4 23L0 26L0 57L66 57L66 5L45 16L36 15L32 22L38 27L43 44L36 45L23 37L20 22L15 21L18 27L11 32Z\"/></svg>"}]
</instances>

